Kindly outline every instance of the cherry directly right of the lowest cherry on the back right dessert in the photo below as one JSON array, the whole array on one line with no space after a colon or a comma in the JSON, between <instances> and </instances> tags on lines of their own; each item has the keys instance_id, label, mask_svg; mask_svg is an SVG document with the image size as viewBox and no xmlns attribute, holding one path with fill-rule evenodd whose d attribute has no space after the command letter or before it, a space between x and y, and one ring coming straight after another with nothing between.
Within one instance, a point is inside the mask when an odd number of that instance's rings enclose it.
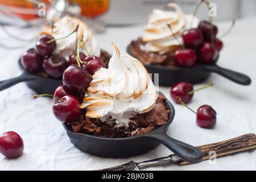
<instances>
[{"instance_id":1,"label":"cherry directly right of the lowest cherry on the back right dessert","mask_svg":"<svg viewBox=\"0 0 256 182\"><path fill-rule=\"evenodd\" d=\"M218 56L218 51L210 42L204 42L198 49L197 60L201 63L213 63Z\"/></svg>"}]
</instances>

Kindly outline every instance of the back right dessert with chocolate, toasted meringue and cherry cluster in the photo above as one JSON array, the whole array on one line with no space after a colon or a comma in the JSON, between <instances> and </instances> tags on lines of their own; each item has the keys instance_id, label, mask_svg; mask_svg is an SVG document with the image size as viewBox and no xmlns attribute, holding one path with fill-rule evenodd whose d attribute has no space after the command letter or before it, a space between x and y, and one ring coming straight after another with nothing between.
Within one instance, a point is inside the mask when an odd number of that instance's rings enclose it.
<instances>
[{"instance_id":1,"label":"back right dessert with chocolate, toasted meringue and cherry cluster","mask_svg":"<svg viewBox=\"0 0 256 182\"><path fill-rule=\"evenodd\" d=\"M207 1L201 1L201 3ZM197 6L197 7L198 7ZM198 62L211 64L223 47L217 39L217 26L212 18L201 21L194 14L184 14L176 3L174 10L155 9L149 15L142 38L130 43L128 51L144 64L166 67L192 67ZM197 8L196 8L197 9Z\"/></svg>"}]
</instances>

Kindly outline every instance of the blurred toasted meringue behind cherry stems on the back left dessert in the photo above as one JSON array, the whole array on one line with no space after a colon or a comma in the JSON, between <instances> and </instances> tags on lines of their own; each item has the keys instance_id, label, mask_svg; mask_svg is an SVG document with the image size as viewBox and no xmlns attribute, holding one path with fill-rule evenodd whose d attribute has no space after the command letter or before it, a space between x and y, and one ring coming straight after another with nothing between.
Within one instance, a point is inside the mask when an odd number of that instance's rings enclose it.
<instances>
[{"instance_id":1,"label":"blurred toasted meringue behind cherry stems on the back left dessert","mask_svg":"<svg viewBox=\"0 0 256 182\"><path fill-rule=\"evenodd\" d=\"M90 55L100 56L101 50L98 45L97 39L90 31L89 27L82 22L80 19L73 18L71 16L64 16L63 18L55 19L52 36L55 39L63 38L67 36L72 31L75 30L77 24L79 24L79 29L77 31L77 39L81 40L84 37L85 46L88 49ZM51 34L51 27L44 27L43 34ZM76 33L68 36L65 39L57 40L57 47L55 53L65 57L68 60L68 56L71 55L73 51L76 50ZM86 54L86 51L82 46L80 46L80 52Z\"/></svg>"}]
</instances>

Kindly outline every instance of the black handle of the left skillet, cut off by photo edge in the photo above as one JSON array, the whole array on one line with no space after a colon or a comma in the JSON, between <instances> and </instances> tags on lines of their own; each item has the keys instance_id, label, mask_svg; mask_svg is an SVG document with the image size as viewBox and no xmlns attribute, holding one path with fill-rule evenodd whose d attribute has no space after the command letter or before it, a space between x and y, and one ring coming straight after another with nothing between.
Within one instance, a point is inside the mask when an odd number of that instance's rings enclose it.
<instances>
[{"instance_id":1,"label":"black handle of the left skillet, cut off by photo edge","mask_svg":"<svg viewBox=\"0 0 256 182\"><path fill-rule=\"evenodd\" d=\"M18 77L0 81L0 91L5 90L15 84L18 84L19 82L35 80L35 78L36 78L35 76L26 75L26 74L22 73L22 75L20 75Z\"/></svg>"}]
</instances>

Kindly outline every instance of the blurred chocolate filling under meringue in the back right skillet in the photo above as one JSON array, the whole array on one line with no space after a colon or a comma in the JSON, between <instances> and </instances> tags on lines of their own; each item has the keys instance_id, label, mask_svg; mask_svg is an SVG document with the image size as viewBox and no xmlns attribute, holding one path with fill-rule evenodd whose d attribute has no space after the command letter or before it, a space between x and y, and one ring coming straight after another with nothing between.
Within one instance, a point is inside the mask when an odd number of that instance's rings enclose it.
<instances>
[{"instance_id":1,"label":"blurred chocolate filling under meringue in the back right skillet","mask_svg":"<svg viewBox=\"0 0 256 182\"><path fill-rule=\"evenodd\" d=\"M165 67L176 67L174 52L168 52L160 54L157 52L148 52L143 49L144 42L142 38L133 40L128 47L131 56L136 57L138 60L142 61L144 64L160 64Z\"/></svg>"}]
</instances>

